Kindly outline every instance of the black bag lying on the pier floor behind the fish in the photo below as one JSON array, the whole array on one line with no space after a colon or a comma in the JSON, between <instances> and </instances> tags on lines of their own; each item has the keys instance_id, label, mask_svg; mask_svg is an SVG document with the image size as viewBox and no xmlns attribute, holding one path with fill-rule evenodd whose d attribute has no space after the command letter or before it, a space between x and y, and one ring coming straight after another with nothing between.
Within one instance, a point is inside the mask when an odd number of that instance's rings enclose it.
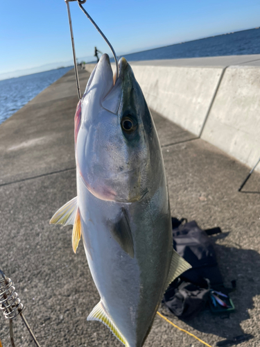
<instances>
[{"instance_id":1,"label":"black bag lying on the pier floor behind the fish","mask_svg":"<svg viewBox=\"0 0 260 347\"><path fill-rule=\"evenodd\" d=\"M173 219L173 226L177 226ZM219 228L215 232L221 232ZM214 232L209 230L209 234ZM196 221L173 228L173 248L192 269L174 280L164 294L163 303L176 316L187 319L196 316L209 298L210 287L223 286L216 253L207 232Z\"/></svg>"}]
</instances>

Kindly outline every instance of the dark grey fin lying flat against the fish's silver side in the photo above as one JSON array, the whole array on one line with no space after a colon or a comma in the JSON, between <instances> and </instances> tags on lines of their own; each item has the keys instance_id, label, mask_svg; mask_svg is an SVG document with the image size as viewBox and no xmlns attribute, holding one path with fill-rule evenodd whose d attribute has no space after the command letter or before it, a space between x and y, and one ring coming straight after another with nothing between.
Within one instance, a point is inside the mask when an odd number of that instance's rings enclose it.
<instances>
[{"instance_id":1,"label":"dark grey fin lying flat against the fish's silver side","mask_svg":"<svg viewBox=\"0 0 260 347\"><path fill-rule=\"evenodd\" d=\"M121 208L116 222L111 223L110 232L113 239L123 248L123 251L133 258L135 255L134 242L132 241L132 232L124 208Z\"/></svg>"}]
</instances>

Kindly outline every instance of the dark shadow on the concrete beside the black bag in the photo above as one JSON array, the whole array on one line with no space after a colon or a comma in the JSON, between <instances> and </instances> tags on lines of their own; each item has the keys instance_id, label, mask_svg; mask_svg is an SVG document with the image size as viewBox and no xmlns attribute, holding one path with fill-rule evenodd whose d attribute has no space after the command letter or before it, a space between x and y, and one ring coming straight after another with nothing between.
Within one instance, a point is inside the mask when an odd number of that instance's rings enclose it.
<instances>
[{"instance_id":1,"label":"dark shadow on the concrete beside the black bag","mask_svg":"<svg viewBox=\"0 0 260 347\"><path fill-rule=\"evenodd\" d=\"M254 307L254 296L260 292L259 253L250 249L242 249L239 244L233 242L230 247L217 243L225 242L223 239L228 235L229 232L225 232L210 238L214 243L225 287L232 287L231 281L236 280L236 289L229 294L236 311L231 314L215 315L206 308L193 319L183 320L200 332L223 337L223 341L220 341L217 346L233 346L253 338L250 335L249 323L243 323L243 327L246 326L247 331L243 331L241 323L249 319L257 319L257 317L252 317L252 312L249 311Z\"/></svg>"}]
</instances>

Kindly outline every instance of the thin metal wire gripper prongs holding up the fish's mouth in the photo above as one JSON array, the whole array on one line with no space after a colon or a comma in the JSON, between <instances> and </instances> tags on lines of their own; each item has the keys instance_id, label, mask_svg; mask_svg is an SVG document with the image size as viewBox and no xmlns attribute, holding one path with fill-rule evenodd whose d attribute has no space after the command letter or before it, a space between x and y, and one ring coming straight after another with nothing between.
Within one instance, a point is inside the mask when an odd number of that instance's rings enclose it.
<instances>
[{"instance_id":1,"label":"thin metal wire gripper prongs holding up the fish's mouth","mask_svg":"<svg viewBox=\"0 0 260 347\"><path fill-rule=\"evenodd\" d=\"M114 61L116 62L116 79L119 78L119 62L116 57L116 53L110 44L110 42L107 40L107 37L105 37L104 33L101 31L101 29L98 27L98 25L94 22L92 17L89 16L85 8L83 8L82 4L85 3L87 0L65 0L65 3L67 5L67 11L68 11L68 17L69 17L69 29L71 32L71 44L72 44L72 51L73 51L73 61L74 61L74 69L75 69L75 76L76 76L76 85L77 85L77 90L78 90L78 99L81 99L81 93L80 93L80 82L78 78L78 67L77 67L77 60L76 60L76 51L75 51L75 44L74 44L74 37L73 37L73 30L72 30L72 23L71 23L71 11L69 9L69 2L70 1L78 1L78 6L80 7L81 10L85 13L87 18L92 22L98 33L101 34L105 42L107 42L108 46L110 47L113 56L114 56Z\"/></svg>"}]
</instances>

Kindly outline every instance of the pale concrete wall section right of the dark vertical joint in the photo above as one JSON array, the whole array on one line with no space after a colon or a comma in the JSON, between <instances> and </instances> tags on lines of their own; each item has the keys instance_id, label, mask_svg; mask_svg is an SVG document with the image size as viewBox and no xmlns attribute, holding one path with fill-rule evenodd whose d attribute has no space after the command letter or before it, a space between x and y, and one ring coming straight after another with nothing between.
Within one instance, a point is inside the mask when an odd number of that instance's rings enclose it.
<instances>
[{"instance_id":1,"label":"pale concrete wall section right of the dark vertical joint","mask_svg":"<svg viewBox=\"0 0 260 347\"><path fill-rule=\"evenodd\" d=\"M226 69L202 139L254 166L260 157L259 67Z\"/></svg>"}]
</instances>

